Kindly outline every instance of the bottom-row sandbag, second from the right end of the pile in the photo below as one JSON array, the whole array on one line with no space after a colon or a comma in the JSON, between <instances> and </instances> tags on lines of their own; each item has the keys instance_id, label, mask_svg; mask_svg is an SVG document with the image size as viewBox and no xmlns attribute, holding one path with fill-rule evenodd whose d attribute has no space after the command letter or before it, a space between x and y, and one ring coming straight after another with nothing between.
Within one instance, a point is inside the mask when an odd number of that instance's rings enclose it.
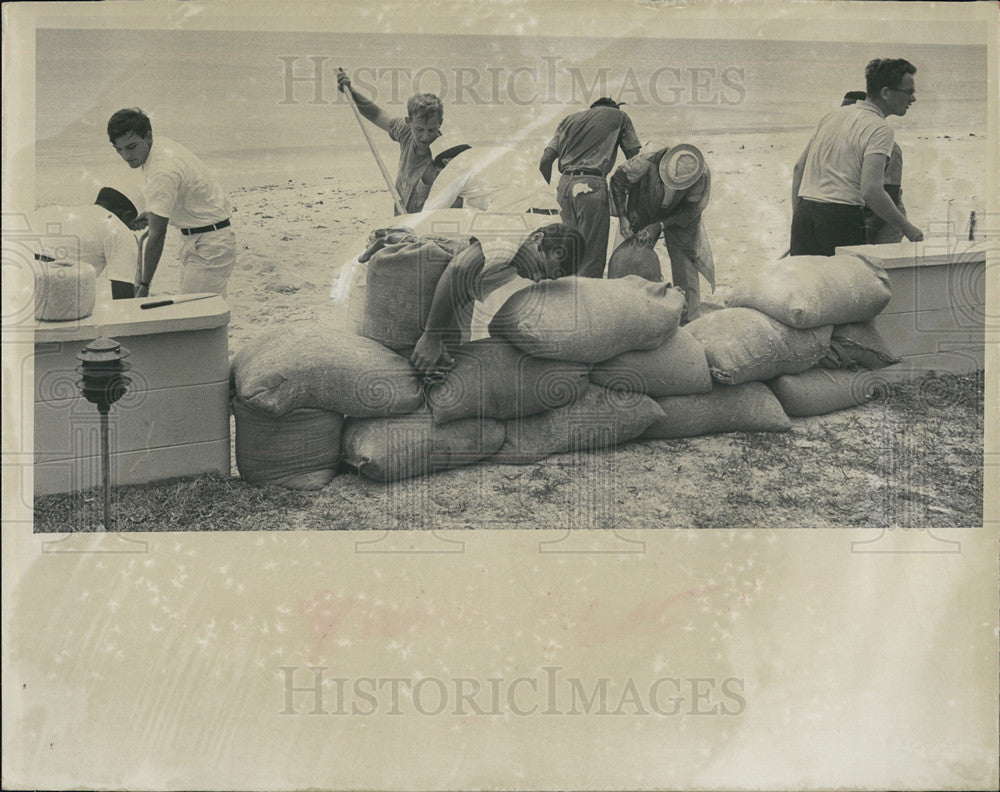
<instances>
[{"instance_id":1,"label":"bottom-row sandbag, second from the right end of the pile","mask_svg":"<svg viewBox=\"0 0 1000 792\"><path fill-rule=\"evenodd\" d=\"M721 432L785 432L792 422L763 382L715 385L711 393L657 399L663 417L640 440L667 440Z\"/></svg>"}]
</instances>

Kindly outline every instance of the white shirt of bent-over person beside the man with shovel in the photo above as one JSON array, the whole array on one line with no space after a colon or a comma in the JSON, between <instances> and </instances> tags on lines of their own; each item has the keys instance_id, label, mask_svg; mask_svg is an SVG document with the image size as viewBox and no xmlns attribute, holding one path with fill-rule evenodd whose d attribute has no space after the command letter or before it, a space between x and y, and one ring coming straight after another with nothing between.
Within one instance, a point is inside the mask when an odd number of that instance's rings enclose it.
<instances>
[{"instance_id":1,"label":"white shirt of bent-over person beside the man with shovel","mask_svg":"<svg viewBox=\"0 0 1000 792\"><path fill-rule=\"evenodd\" d=\"M519 149L500 146L467 149L449 162L434 180L424 210L447 209L457 198L463 208L481 212L559 209L537 163Z\"/></svg>"}]
</instances>

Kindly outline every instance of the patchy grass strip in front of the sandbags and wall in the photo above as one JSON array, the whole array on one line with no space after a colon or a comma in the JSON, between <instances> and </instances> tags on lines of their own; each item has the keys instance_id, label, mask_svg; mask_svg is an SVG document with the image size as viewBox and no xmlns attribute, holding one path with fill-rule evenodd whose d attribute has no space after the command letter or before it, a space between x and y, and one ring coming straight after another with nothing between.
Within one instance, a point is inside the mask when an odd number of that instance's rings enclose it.
<instances>
[{"instance_id":1,"label":"patchy grass strip in front of the sandbags and wall","mask_svg":"<svg viewBox=\"0 0 1000 792\"><path fill-rule=\"evenodd\" d=\"M609 475L609 471L611 471ZM882 389L791 432L632 443L393 484L342 473L296 492L238 478L120 487L121 531L647 527L968 527L982 522L983 373ZM101 530L102 496L35 499L35 531ZM595 516L596 515L596 516Z\"/></svg>"}]
</instances>

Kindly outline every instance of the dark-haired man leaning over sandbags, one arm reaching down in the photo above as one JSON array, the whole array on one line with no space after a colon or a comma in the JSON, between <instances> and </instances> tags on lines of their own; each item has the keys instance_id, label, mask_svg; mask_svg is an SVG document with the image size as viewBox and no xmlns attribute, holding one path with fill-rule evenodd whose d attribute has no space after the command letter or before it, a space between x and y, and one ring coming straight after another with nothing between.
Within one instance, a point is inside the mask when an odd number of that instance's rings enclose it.
<instances>
[{"instance_id":1,"label":"dark-haired man leaning over sandbags, one arm reaching down","mask_svg":"<svg viewBox=\"0 0 1000 792\"><path fill-rule=\"evenodd\" d=\"M575 275L585 248L580 232L562 223L543 226L520 242L473 237L471 243L449 262L434 289L424 331L410 356L424 374L454 365L446 344L468 331L477 300L515 278L538 283Z\"/></svg>"}]
</instances>

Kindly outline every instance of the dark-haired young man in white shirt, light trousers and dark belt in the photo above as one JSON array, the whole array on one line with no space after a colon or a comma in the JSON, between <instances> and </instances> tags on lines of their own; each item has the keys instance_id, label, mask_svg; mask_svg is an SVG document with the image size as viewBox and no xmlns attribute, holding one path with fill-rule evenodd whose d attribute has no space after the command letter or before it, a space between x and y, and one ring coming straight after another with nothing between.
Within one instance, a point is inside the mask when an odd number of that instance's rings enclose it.
<instances>
[{"instance_id":1,"label":"dark-haired young man in white shirt, light trousers and dark belt","mask_svg":"<svg viewBox=\"0 0 1000 792\"><path fill-rule=\"evenodd\" d=\"M143 271L135 296L145 297L163 254L167 225L183 239L178 293L214 292L223 297L236 265L236 234L229 199L207 167L184 146L163 136L153 140L149 117L138 108L119 110L108 121L108 138L130 168L142 168L149 227Z\"/></svg>"}]
</instances>

